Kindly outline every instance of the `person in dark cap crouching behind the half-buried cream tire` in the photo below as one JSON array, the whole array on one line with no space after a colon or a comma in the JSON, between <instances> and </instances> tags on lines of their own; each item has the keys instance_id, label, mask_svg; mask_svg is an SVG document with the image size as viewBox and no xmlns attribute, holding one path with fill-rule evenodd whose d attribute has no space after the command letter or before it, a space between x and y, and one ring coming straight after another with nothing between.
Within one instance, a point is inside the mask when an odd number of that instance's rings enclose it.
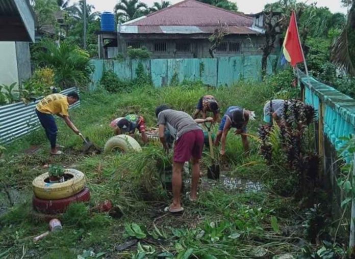
<instances>
[{"instance_id":1,"label":"person in dark cap crouching behind the half-buried cream tire","mask_svg":"<svg viewBox=\"0 0 355 259\"><path fill-rule=\"evenodd\" d=\"M128 114L126 117L120 117L113 120L110 126L115 130L115 134L129 133L133 136L136 129L141 133L143 143L148 142L148 136L145 134L145 122L142 116Z\"/></svg>"}]
</instances>

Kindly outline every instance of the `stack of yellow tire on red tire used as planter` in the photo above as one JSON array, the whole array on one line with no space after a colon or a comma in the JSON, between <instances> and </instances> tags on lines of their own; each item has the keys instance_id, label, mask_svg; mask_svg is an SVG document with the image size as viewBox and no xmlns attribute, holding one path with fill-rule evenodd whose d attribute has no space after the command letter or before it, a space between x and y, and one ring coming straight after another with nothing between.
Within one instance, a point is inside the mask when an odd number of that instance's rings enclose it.
<instances>
[{"instance_id":1,"label":"stack of yellow tire on red tire used as planter","mask_svg":"<svg viewBox=\"0 0 355 259\"><path fill-rule=\"evenodd\" d=\"M88 202L90 191L86 187L85 175L75 169L66 169L64 182L50 183L48 172L36 177L33 182L33 208L44 214L65 212L69 204Z\"/></svg>"}]
</instances>

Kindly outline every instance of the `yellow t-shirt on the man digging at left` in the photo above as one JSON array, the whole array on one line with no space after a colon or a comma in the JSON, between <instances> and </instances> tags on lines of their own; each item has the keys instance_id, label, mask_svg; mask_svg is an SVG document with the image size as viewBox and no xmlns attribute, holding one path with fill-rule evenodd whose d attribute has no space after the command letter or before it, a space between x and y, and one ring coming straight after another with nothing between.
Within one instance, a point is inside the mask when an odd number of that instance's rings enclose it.
<instances>
[{"instance_id":1,"label":"yellow t-shirt on the man digging at left","mask_svg":"<svg viewBox=\"0 0 355 259\"><path fill-rule=\"evenodd\" d=\"M61 114L69 116L69 103L67 97L62 94L51 94L44 97L36 106L36 109L47 114Z\"/></svg>"}]
</instances>

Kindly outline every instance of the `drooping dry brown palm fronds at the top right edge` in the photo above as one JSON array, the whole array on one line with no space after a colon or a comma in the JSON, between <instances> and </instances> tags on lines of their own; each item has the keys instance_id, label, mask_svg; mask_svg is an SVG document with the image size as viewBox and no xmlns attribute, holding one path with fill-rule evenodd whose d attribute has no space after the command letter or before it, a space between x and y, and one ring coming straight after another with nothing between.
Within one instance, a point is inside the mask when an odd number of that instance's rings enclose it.
<instances>
[{"instance_id":1,"label":"drooping dry brown palm fronds at the top right edge","mask_svg":"<svg viewBox=\"0 0 355 259\"><path fill-rule=\"evenodd\" d=\"M355 76L355 0L352 0L348 20L332 49L332 61L351 76Z\"/></svg>"}]
</instances>

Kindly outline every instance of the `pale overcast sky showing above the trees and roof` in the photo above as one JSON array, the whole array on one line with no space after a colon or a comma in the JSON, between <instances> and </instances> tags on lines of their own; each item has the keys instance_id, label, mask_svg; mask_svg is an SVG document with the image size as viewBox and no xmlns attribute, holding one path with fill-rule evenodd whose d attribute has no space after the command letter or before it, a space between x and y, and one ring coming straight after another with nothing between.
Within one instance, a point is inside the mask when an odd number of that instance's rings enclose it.
<instances>
[{"instance_id":1,"label":"pale overcast sky showing above the trees and roof","mask_svg":"<svg viewBox=\"0 0 355 259\"><path fill-rule=\"evenodd\" d=\"M161 0L141 0L141 2L146 3L151 6L154 2L159 2ZM237 3L240 12L246 14L258 13L263 10L265 4L277 2L277 0L231 0ZM71 0L70 4L79 2L79 0ZM113 7L119 2L119 0L86 0L86 2L95 7L96 11L113 11ZM181 0L170 0L170 3L175 4L181 2ZM300 1L301 2L301 1ZM302 1L305 2L305 1ZM317 2L319 7L328 7L331 12L342 12L346 13L346 8L341 6L340 0L308 0L307 3L311 4Z\"/></svg>"}]
</instances>

